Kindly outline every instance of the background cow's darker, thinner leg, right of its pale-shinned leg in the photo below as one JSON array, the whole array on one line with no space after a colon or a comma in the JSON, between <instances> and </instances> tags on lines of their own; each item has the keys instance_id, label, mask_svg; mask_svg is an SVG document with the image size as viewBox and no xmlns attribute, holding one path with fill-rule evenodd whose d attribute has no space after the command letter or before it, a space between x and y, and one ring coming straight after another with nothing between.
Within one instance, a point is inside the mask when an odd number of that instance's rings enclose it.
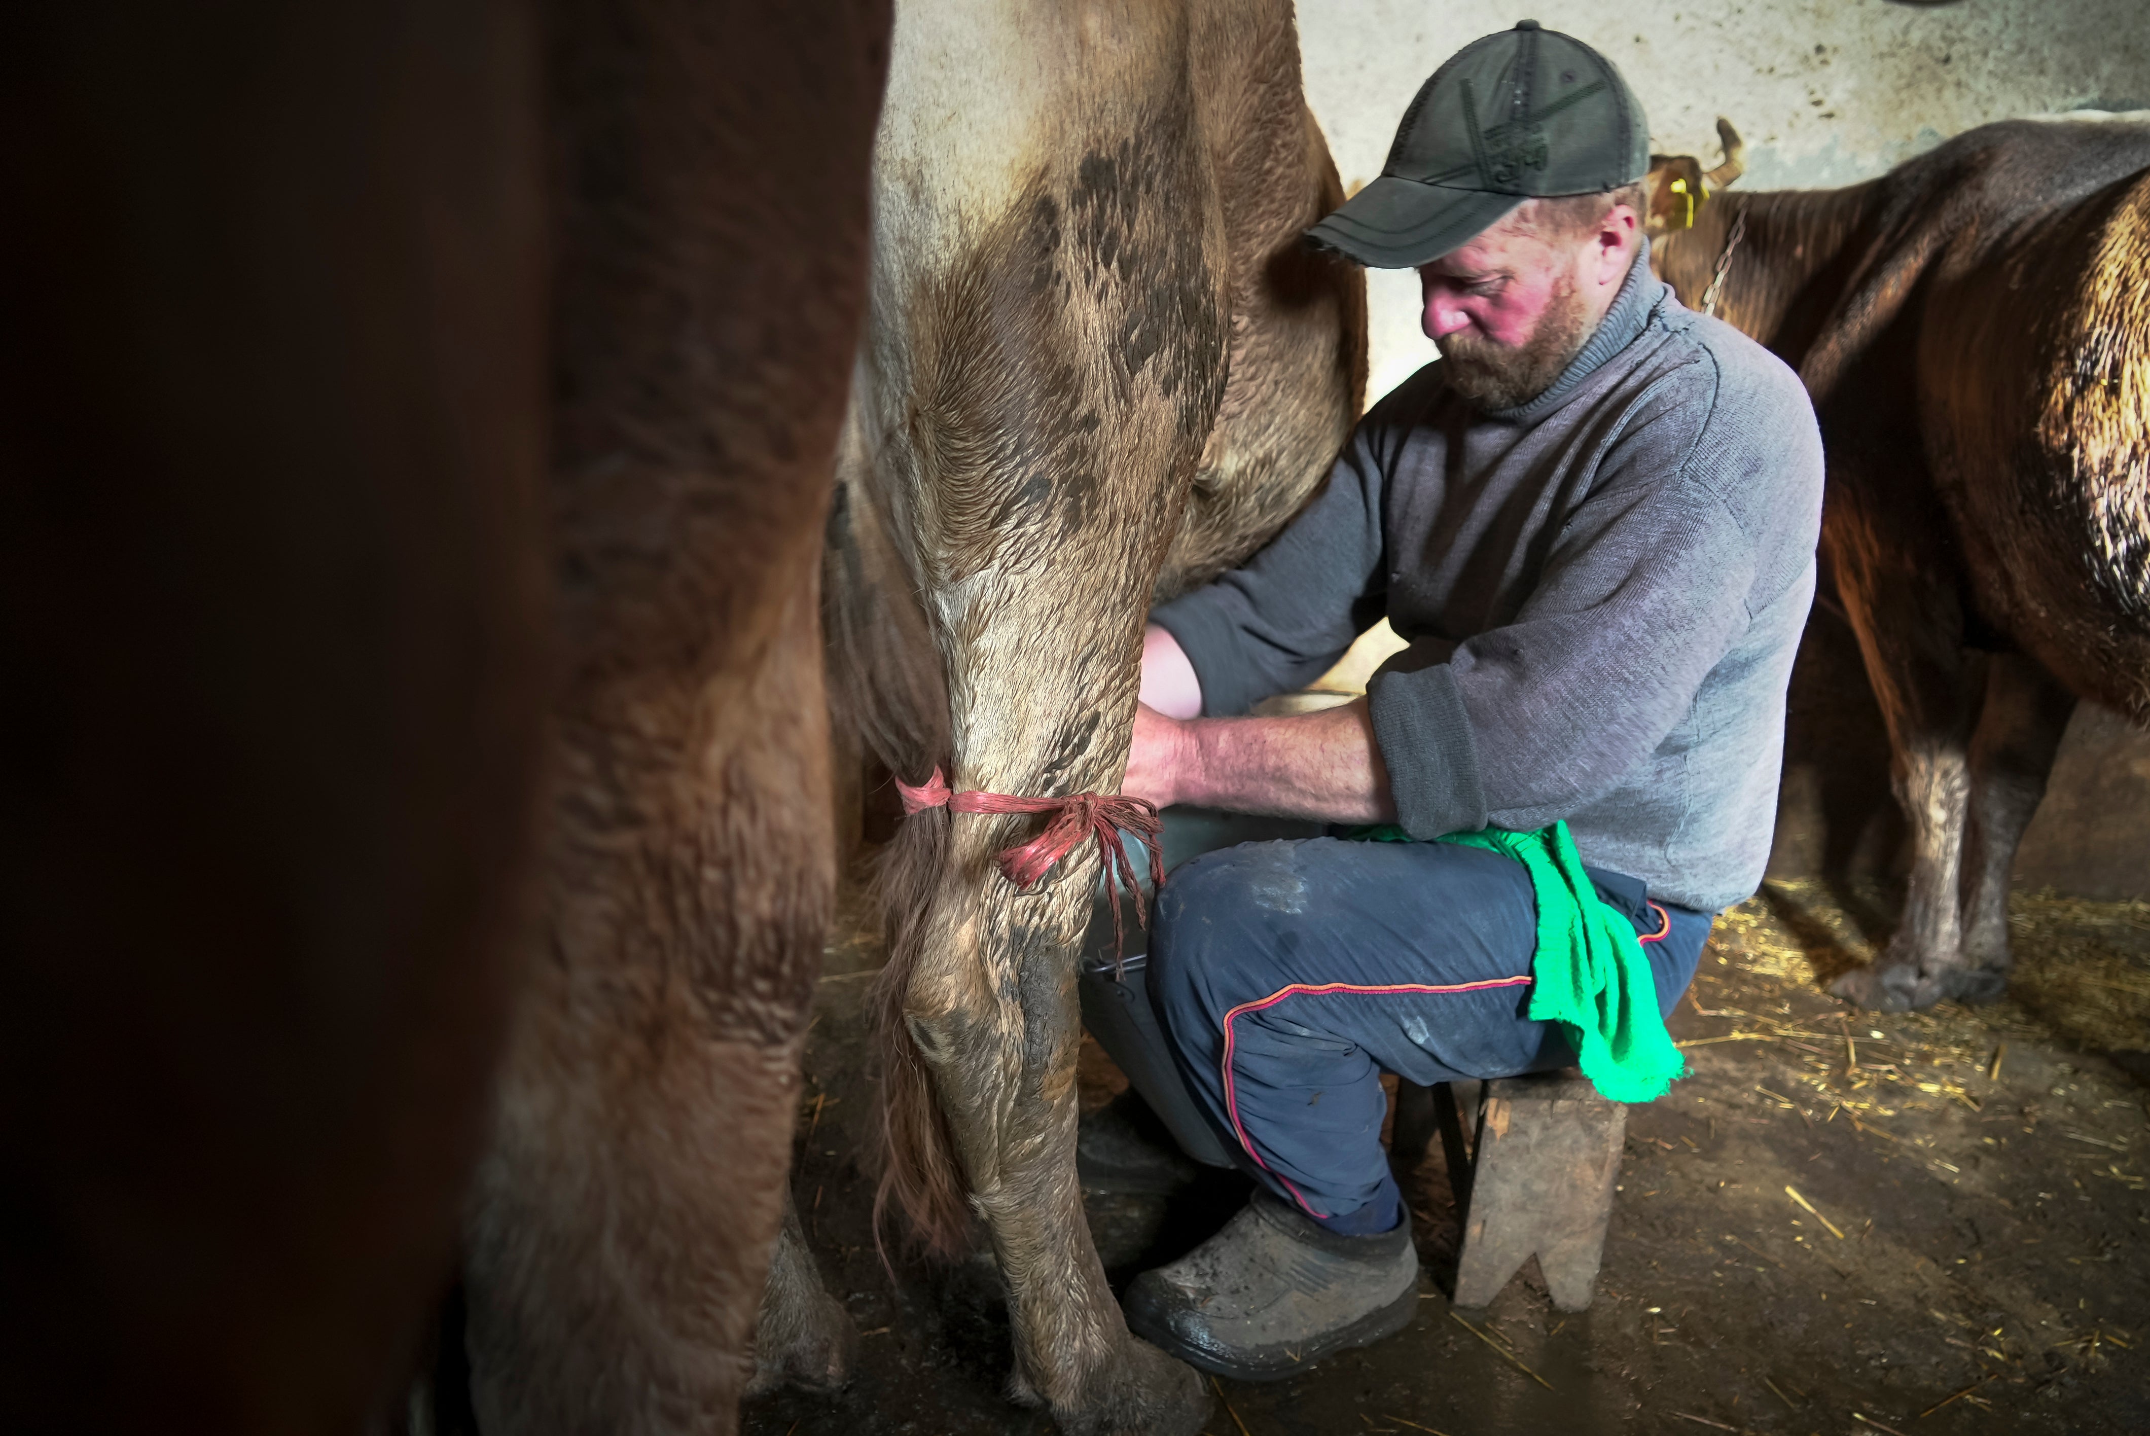
<instances>
[{"instance_id":1,"label":"background cow's darker, thinner leg, right of its pale-shinned leg","mask_svg":"<svg viewBox=\"0 0 2150 1436\"><path fill-rule=\"evenodd\" d=\"M2008 989L2008 881L2017 845L2045 798L2075 694L2036 658L1993 654L1972 735L1972 806L1963 851L1965 997Z\"/></svg>"}]
</instances>

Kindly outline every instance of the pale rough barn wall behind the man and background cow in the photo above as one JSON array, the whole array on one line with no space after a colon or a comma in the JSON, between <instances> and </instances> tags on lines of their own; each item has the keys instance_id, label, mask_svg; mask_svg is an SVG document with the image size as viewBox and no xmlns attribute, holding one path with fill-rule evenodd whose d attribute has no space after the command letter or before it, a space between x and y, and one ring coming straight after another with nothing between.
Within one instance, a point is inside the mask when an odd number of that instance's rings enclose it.
<instances>
[{"instance_id":1,"label":"pale rough barn wall behind the man and background cow","mask_svg":"<svg viewBox=\"0 0 2150 1436\"><path fill-rule=\"evenodd\" d=\"M2017 114L2150 107L2150 0L1303 0L1307 99L1348 189L1380 174L1395 120L1449 54L1535 17L1612 58L1651 148L1716 161L1716 116L1748 140L1746 189L1847 185ZM2150 282L2150 279L2146 279ZM1380 396L1434 357L1417 277L1374 271ZM1903 819L1855 645L1817 611L1793 677L1772 873L1888 873ZM2150 735L2083 707L2017 881L2150 894Z\"/></svg>"}]
</instances>

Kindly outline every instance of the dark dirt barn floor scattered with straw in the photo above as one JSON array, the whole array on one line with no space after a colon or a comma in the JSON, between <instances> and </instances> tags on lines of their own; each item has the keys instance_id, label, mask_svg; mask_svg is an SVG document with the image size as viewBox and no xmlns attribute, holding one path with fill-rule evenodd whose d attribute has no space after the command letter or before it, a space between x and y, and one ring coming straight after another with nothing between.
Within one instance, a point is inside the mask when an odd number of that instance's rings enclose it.
<instances>
[{"instance_id":1,"label":"dark dirt barn floor scattered with straw","mask_svg":"<svg viewBox=\"0 0 2150 1436\"><path fill-rule=\"evenodd\" d=\"M2150 1047L2150 903L2019 896L2010 1002L1873 1017L1823 985L1870 954L1886 914L1877 890L1769 884L1718 922L1673 1019L1692 1073L1630 1111L1587 1313L1554 1311L1535 1266L1484 1311L1449 1307L1458 1227L1436 1141L1406 1182L1419 1320L1290 1382L1223 1382L1206 1430L2150 1430L2150 1088L2126 1071ZM862 1369L838 1397L752 1402L746 1432L1045 1434L1000 1395L991 1262L899 1264L890 1283L875 1255L858 1152L877 961L864 933L830 950L796 1176ZM1086 1045L1086 1105L1116 1081ZM1086 1202L1120 1283L1241 1193Z\"/></svg>"}]
</instances>

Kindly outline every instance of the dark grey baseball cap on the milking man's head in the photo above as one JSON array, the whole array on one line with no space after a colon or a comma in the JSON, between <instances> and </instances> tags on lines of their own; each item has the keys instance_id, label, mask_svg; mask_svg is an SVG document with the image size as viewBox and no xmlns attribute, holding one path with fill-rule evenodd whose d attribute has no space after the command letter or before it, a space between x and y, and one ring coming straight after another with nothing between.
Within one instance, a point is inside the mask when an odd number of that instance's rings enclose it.
<instances>
[{"instance_id":1,"label":"dark grey baseball cap on the milking man's head","mask_svg":"<svg viewBox=\"0 0 2150 1436\"><path fill-rule=\"evenodd\" d=\"M1645 174L1649 123L1612 60L1524 19L1419 86L1380 178L1307 239L1374 269L1413 269L1529 198L1604 193Z\"/></svg>"}]
</instances>

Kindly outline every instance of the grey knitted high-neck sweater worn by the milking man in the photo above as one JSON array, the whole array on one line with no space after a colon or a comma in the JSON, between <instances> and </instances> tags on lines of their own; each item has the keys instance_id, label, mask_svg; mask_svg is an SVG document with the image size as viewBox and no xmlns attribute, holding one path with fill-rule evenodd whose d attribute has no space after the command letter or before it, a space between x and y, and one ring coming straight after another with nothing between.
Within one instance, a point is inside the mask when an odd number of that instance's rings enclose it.
<instances>
[{"instance_id":1,"label":"grey knitted high-neck sweater worn by the milking man","mask_svg":"<svg viewBox=\"0 0 2150 1436\"><path fill-rule=\"evenodd\" d=\"M1585 862L1714 911L1761 884L1815 595L1797 376L1647 256L1554 385L1479 413L1430 363L1245 568L1152 617L1243 714L1382 615L1374 737L1419 838L1567 819Z\"/></svg>"}]
</instances>

